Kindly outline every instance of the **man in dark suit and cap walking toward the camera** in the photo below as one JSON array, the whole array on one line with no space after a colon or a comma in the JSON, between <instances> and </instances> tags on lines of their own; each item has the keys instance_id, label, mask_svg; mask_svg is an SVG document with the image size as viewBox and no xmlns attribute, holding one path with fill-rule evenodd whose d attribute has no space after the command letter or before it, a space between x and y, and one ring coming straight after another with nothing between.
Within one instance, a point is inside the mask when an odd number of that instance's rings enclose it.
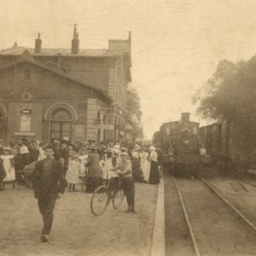
<instances>
[{"instance_id":1,"label":"man in dark suit and cap walking toward the camera","mask_svg":"<svg viewBox=\"0 0 256 256\"><path fill-rule=\"evenodd\" d=\"M46 159L37 162L33 173L33 189L38 199L39 211L43 215L44 228L41 241L49 240L53 222L55 201L59 192L64 193L67 181L63 177L61 163L54 159L54 148L45 148Z\"/></svg>"}]
</instances>

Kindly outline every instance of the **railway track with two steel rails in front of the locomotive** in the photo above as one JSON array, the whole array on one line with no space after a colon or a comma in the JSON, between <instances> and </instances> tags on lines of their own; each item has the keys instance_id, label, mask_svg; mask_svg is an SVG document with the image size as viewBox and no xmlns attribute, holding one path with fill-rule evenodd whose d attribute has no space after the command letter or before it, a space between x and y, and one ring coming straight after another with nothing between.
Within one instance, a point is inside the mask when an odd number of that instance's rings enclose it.
<instances>
[{"instance_id":1,"label":"railway track with two steel rails in front of the locomotive","mask_svg":"<svg viewBox=\"0 0 256 256\"><path fill-rule=\"evenodd\" d=\"M176 179L196 256L255 255L256 227L204 179Z\"/></svg>"}]
</instances>

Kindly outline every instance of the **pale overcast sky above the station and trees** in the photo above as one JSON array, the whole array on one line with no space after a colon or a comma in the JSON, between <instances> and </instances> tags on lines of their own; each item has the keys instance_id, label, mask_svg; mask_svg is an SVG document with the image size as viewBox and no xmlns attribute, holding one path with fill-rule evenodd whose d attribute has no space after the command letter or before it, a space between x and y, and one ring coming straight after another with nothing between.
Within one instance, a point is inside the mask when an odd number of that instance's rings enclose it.
<instances>
[{"instance_id":1,"label":"pale overcast sky above the station and trees","mask_svg":"<svg viewBox=\"0 0 256 256\"><path fill-rule=\"evenodd\" d=\"M147 137L161 123L195 113L191 96L218 61L256 54L255 0L1 0L0 47L108 48L131 30L132 86L141 96ZM192 115L192 119L199 118Z\"/></svg>"}]
</instances>

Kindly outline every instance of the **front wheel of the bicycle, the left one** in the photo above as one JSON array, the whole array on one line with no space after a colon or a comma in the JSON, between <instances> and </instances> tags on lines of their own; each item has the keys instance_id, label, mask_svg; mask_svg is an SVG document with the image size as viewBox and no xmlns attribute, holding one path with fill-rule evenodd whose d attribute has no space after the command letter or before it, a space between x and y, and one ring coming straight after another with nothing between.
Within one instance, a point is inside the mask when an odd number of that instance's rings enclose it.
<instances>
[{"instance_id":1,"label":"front wheel of the bicycle, the left one","mask_svg":"<svg viewBox=\"0 0 256 256\"><path fill-rule=\"evenodd\" d=\"M109 204L108 188L106 186L98 187L90 200L90 211L98 216L105 212Z\"/></svg>"}]
</instances>

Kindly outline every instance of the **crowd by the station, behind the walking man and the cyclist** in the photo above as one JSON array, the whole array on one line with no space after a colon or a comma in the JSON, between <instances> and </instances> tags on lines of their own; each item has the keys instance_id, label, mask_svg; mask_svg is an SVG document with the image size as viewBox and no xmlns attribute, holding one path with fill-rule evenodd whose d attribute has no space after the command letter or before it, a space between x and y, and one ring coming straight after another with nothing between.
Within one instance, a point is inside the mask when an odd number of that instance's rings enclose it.
<instances>
[{"instance_id":1,"label":"crowd by the station, behind the walking man and the cyclist","mask_svg":"<svg viewBox=\"0 0 256 256\"><path fill-rule=\"evenodd\" d=\"M47 144L39 141L29 143L25 138L20 143L0 145L0 190L3 183L25 183L39 160L45 159ZM135 182L157 184L160 181L161 152L159 148L143 148L138 144L124 143L78 143L65 140L51 143L54 159L61 162L68 191L78 191L78 184L91 193L107 179L117 176L120 154L126 152L131 160L132 177ZM26 172L27 170L27 172ZM24 172L22 172L24 171Z\"/></svg>"}]
</instances>

